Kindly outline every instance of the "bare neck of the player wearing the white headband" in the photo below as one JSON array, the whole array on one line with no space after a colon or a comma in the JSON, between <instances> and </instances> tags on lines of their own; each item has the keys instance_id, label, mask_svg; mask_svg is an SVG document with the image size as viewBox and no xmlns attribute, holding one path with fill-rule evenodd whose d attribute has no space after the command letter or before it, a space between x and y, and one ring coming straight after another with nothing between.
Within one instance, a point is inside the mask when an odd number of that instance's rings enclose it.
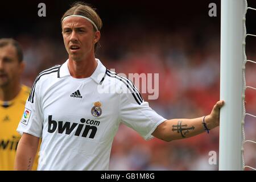
<instances>
[{"instance_id":1,"label":"bare neck of the player wearing the white headband","mask_svg":"<svg viewBox=\"0 0 256 182\"><path fill-rule=\"evenodd\" d=\"M90 59L74 61L70 56L68 60L68 69L74 78L87 78L92 75L97 67L95 57Z\"/></svg>"}]
</instances>

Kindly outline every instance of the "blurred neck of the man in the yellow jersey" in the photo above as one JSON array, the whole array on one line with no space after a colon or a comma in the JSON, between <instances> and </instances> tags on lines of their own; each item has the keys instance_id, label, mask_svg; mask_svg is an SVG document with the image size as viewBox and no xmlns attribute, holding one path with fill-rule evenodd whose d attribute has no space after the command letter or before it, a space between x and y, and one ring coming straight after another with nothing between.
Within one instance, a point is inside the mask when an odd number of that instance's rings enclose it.
<instances>
[{"instance_id":1,"label":"blurred neck of the man in the yellow jersey","mask_svg":"<svg viewBox=\"0 0 256 182\"><path fill-rule=\"evenodd\" d=\"M0 87L0 100L1 101L11 101L16 96L18 96L21 89L20 84L16 84L13 82L13 84L8 84L6 86Z\"/></svg>"}]
</instances>

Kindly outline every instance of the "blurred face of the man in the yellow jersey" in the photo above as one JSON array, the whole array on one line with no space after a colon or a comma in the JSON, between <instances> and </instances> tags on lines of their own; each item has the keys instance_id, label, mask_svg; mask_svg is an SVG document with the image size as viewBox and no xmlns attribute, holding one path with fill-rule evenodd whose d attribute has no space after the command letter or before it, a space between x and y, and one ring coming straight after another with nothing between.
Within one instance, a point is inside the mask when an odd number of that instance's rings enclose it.
<instances>
[{"instance_id":1,"label":"blurred face of the man in the yellow jersey","mask_svg":"<svg viewBox=\"0 0 256 182\"><path fill-rule=\"evenodd\" d=\"M14 46L0 48L0 87L19 81L23 68L24 63L19 63Z\"/></svg>"}]
</instances>

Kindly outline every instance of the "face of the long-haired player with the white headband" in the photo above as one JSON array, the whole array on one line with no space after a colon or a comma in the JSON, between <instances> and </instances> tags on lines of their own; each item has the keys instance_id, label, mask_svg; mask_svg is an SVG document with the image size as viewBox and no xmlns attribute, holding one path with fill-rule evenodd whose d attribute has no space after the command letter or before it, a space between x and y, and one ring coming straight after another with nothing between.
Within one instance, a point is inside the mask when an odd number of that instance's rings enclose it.
<instances>
[{"instance_id":1,"label":"face of the long-haired player with the white headband","mask_svg":"<svg viewBox=\"0 0 256 182\"><path fill-rule=\"evenodd\" d=\"M64 20L62 30L69 57L81 61L94 54L94 44L100 39L100 31L94 32L92 23L81 17L69 17Z\"/></svg>"}]
</instances>

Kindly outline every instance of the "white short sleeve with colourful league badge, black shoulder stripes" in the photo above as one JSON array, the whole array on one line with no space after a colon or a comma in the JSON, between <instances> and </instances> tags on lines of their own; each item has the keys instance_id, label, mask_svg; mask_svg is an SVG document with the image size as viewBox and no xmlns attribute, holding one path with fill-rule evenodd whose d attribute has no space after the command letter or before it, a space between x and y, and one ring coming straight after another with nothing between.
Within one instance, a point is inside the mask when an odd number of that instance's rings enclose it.
<instances>
[{"instance_id":1,"label":"white short sleeve with colourful league badge, black shoulder stripes","mask_svg":"<svg viewBox=\"0 0 256 182\"><path fill-rule=\"evenodd\" d=\"M28 97L22 118L20 119L17 131L20 134L28 133L35 137L42 137L43 120L39 99L39 85L32 86L30 96Z\"/></svg>"}]
</instances>

